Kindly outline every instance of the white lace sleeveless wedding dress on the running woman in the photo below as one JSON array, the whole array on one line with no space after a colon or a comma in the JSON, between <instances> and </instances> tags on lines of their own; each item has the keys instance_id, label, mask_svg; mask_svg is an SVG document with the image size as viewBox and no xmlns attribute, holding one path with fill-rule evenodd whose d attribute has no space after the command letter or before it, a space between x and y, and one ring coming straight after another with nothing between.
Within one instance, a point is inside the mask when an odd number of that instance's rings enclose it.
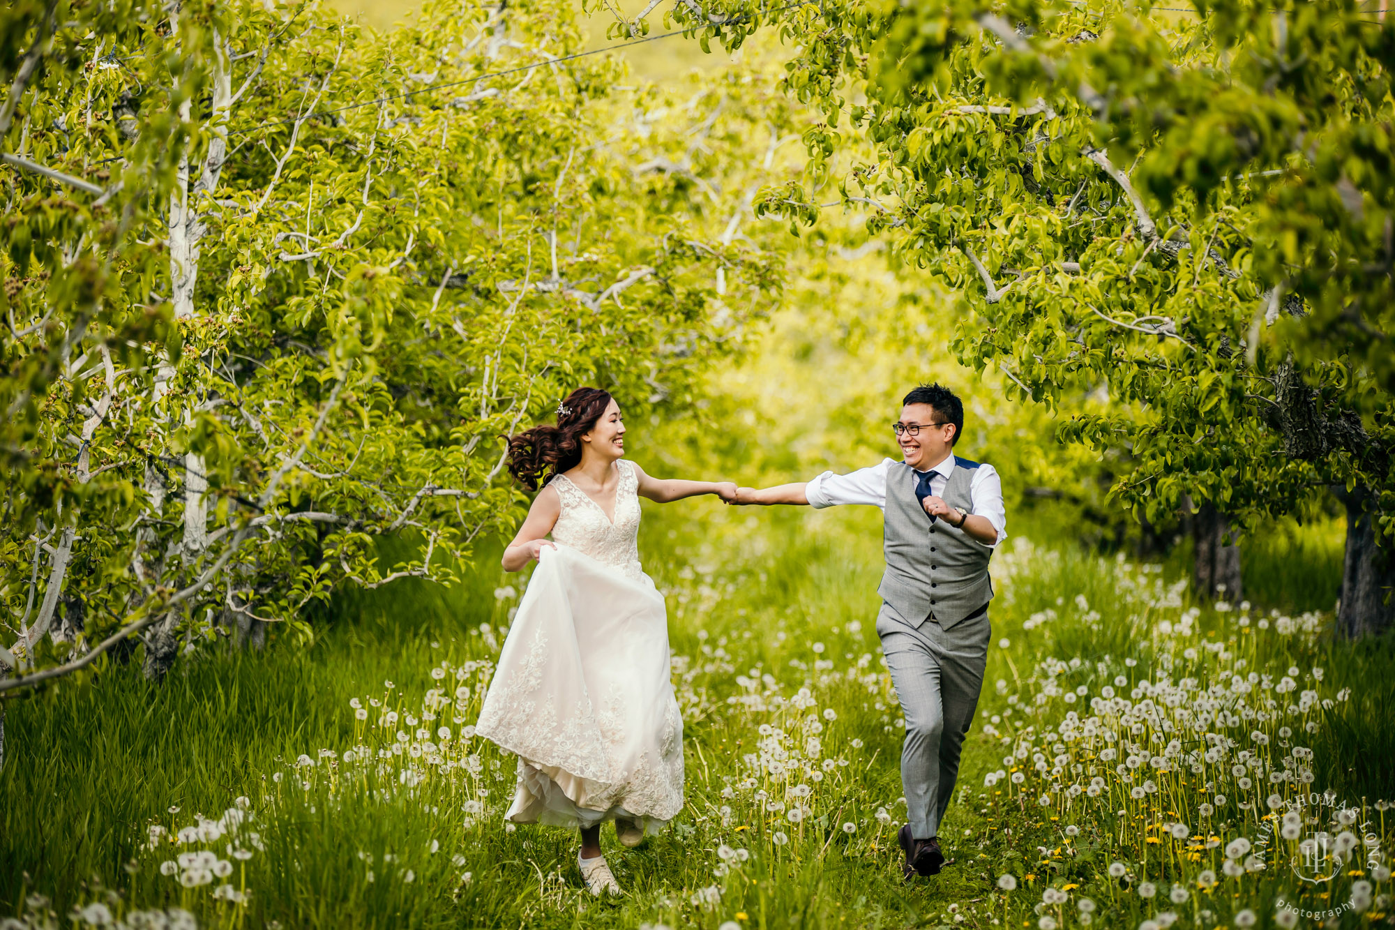
<instances>
[{"instance_id":1,"label":"white lace sleeveless wedding dress on the running woman","mask_svg":"<svg viewBox=\"0 0 1395 930\"><path fill-rule=\"evenodd\" d=\"M684 722L664 596L639 566L639 480L621 459L615 519L565 475L562 500L477 733L516 753L508 820L657 832L684 806Z\"/></svg>"}]
</instances>

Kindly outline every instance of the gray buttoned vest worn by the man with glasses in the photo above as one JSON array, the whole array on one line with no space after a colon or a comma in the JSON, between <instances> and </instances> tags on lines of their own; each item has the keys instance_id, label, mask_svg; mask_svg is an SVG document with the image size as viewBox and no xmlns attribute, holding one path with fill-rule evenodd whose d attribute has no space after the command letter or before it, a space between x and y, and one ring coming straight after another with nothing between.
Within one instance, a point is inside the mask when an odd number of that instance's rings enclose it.
<instances>
[{"instance_id":1,"label":"gray buttoned vest worn by the man with glasses","mask_svg":"<svg viewBox=\"0 0 1395 930\"><path fill-rule=\"evenodd\" d=\"M972 512L970 486L976 469L978 462L954 458L954 471L940 494L946 504ZM947 630L992 600L988 560L993 547L944 519L932 521L915 499L918 480L905 462L886 472L886 574L877 593L907 623L919 626L933 619Z\"/></svg>"}]
</instances>

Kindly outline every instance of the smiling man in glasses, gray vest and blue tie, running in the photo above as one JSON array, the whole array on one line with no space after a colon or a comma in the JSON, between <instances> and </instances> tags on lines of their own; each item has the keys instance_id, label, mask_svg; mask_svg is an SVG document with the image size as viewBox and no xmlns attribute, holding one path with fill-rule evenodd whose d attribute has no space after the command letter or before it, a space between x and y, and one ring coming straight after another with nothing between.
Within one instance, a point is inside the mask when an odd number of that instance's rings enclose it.
<instances>
[{"instance_id":1,"label":"smiling man in glasses, gray vest and blue tie, running","mask_svg":"<svg viewBox=\"0 0 1395 930\"><path fill-rule=\"evenodd\" d=\"M992 465L954 455L964 405L939 384L918 387L891 425L903 461L808 483L742 487L737 504L873 504L884 515L886 574L876 631L905 712L903 871L944 864L939 825L954 795L960 748L988 662L988 560L1003 540L1003 487Z\"/></svg>"}]
</instances>

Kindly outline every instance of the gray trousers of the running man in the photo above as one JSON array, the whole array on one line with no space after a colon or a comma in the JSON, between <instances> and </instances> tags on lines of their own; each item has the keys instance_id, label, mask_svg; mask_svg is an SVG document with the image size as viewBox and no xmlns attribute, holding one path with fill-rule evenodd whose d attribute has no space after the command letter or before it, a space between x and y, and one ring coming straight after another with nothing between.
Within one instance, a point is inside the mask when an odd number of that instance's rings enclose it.
<instances>
[{"instance_id":1,"label":"gray trousers of the running man","mask_svg":"<svg viewBox=\"0 0 1395 930\"><path fill-rule=\"evenodd\" d=\"M942 630L935 620L907 623L883 603L876 633L905 714L901 786L907 822L917 839L929 839L939 835L954 796L960 750L983 686L988 614Z\"/></svg>"}]
</instances>

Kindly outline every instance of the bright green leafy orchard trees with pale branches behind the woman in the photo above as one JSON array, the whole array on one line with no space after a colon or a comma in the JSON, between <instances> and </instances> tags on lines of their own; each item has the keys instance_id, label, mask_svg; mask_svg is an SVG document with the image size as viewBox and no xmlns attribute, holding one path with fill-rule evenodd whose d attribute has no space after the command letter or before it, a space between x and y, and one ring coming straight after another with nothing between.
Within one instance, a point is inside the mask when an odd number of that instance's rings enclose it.
<instances>
[{"instance_id":1,"label":"bright green leafy orchard trees with pale branches behind the woman","mask_svg":"<svg viewBox=\"0 0 1395 930\"><path fill-rule=\"evenodd\" d=\"M778 289L792 101L617 89L566 3L0 15L0 691L451 581L518 518L504 434L579 383L684 406Z\"/></svg>"}]
</instances>

